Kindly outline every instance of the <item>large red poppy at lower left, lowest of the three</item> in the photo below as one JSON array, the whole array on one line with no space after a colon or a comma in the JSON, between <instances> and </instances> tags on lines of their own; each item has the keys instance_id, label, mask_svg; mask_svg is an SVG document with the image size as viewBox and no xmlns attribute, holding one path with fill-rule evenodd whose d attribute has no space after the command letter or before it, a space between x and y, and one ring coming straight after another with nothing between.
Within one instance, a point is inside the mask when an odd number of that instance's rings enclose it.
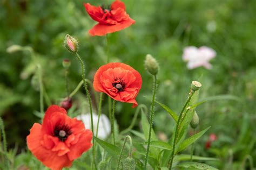
<instances>
[{"instance_id":1,"label":"large red poppy at lower left, lowest of the three","mask_svg":"<svg viewBox=\"0 0 256 170\"><path fill-rule=\"evenodd\" d=\"M66 110L51 105L43 124L35 123L26 137L28 148L35 157L51 169L70 167L73 160L92 146L92 132L82 121L70 118Z\"/></svg>"}]
</instances>

